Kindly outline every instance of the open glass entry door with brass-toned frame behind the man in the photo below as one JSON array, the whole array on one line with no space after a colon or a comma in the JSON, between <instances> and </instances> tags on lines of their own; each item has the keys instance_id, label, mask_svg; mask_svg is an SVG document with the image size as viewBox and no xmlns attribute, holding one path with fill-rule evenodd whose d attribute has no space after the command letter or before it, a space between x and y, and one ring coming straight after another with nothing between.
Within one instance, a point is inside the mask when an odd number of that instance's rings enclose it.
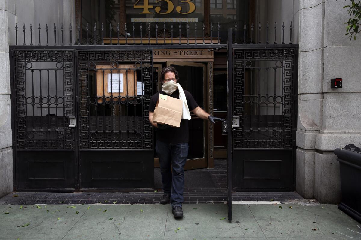
<instances>
[{"instance_id":1,"label":"open glass entry door with brass-toned frame behind the man","mask_svg":"<svg viewBox=\"0 0 361 240\"><path fill-rule=\"evenodd\" d=\"M178 83L184 90L189 91L200 108L208 111L205 107L205 69L204 63L191 62L167 62L167 66L172 66L179 73ZM161 84L158 84L158 90ZM192 109L189 109L190 111ZM191 120L189 121L189 150L186 166L184 169L196 169L208 167L208 159L206 159L207 132L205 120L198 118L191 112ZM155 140L156 141L156 140ZM155 158L155 167L159 166L159 160Z\"/></svg>"}]
</instances>

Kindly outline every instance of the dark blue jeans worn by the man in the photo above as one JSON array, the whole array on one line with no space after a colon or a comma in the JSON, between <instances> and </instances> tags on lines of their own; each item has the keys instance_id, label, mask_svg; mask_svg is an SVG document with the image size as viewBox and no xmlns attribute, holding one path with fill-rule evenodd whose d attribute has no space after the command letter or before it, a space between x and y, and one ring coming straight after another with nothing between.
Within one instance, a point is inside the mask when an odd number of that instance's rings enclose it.
<instances>
[{"instance_id":1,"label":"dark blue jeans worn by the man","mask_svg":"<svg viewBox=\"0 0 361 240\"><path fill-rule=\"evenodd\" d=\"M188 143L156 143L164 194L170 194L170 204L182 207L184 188L184 165L188 156ZM171 168L173 172L171 172Z\"/></svg>"}]
</instances>

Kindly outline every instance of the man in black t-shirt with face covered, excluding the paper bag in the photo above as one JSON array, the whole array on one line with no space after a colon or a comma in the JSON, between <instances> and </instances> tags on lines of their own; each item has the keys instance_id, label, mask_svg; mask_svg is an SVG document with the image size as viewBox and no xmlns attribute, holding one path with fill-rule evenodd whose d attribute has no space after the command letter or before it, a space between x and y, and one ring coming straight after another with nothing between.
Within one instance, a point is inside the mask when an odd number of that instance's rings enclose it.
<instances>
[{"instance_id":1,"label":"man in black t-shirt with face covered, excluding the paper bag","mask_svg":"<svg viewBox=\"0 0 361 240\"><path fill-rule=\"evenodd\" d=\"M179 90L176 86L178 72L174 67L165 67L160 73L162 90L152 96L149 104L149 121L157 128L156 151L162 175L164 194L160 200L161 204L171 203L172 213L175 218L183 217L183 188L184 188L184 164L188 156L188 121L181 119L179 127L171 127L168 124L153 123L153 112L156 107L159 94L179 99ZM223 121L221 118L213 117L201 109L190 92L184 90L188 109L201 119ZM183 108L184 109L184 108ZM171 171L171 168L173 171Z\"/></svg>"}]
</instances>

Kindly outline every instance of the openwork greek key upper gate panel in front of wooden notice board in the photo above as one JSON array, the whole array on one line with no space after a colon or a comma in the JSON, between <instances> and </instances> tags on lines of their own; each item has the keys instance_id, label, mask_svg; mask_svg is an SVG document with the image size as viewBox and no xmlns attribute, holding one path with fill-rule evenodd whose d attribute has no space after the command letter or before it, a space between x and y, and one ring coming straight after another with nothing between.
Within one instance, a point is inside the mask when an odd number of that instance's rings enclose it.
<instances>
[{"instance_id":1,"label":"openwork greek key upper gate panel in front of wooden notice board","mask_svg":"<svg viewBox=\"0 0 361 240\"><path fill-rule=\"evenodd\" d=\"M77 59L80 148L153 149L153 132L148 119L152 51L78 51ZM124 89L120 90L119 83L117 92L106 92L104 86L110 86L109 81L113 84L114 73L119 75L115 76L119 82L120 79L125 82ZM99 91L99 87L104 91ZM141 87L142 92L138 89Z\"/></svg>"}]
</instances>

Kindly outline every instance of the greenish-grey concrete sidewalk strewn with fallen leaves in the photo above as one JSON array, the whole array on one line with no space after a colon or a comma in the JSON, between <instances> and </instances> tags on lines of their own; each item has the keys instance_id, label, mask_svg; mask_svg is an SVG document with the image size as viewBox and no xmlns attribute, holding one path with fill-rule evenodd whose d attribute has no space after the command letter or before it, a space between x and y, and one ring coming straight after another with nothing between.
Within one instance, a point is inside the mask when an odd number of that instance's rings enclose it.
<instances>
[{"instance_id":1,"label":"greenish-grey concrete sidewalk strewn with fallen leaves","mask_svg":"<svg viewBox=\"0 0 361 240\"><path fill-rule=\"evenodd\" d=\"M361 239L361 225L336 205L238 204L232 223L225 204L184 204L181 220L170 205L38 206L0 205L0 240Z\"/></svg>"}]
</instances>

